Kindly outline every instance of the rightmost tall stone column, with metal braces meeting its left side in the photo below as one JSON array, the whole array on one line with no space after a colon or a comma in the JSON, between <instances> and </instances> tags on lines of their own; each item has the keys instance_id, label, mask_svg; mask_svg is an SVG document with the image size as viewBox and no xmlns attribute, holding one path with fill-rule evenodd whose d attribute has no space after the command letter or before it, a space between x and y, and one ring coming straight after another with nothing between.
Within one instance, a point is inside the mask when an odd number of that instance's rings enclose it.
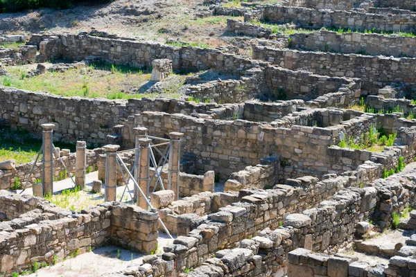
<instances>
[{"instance_id":1,"label":"rightmost tall stone column, with metal braces meeting its left side","mask_svg":"<svg viewBox=\"0 0 416 277\"><path fill-rule=\"evenodd\" d=\"M171 151L169 152L169 190L175 192L175 199L179 199L179 171L180 171L180 138L184 134L171 132Z\"/></svg>"}]
</instances>

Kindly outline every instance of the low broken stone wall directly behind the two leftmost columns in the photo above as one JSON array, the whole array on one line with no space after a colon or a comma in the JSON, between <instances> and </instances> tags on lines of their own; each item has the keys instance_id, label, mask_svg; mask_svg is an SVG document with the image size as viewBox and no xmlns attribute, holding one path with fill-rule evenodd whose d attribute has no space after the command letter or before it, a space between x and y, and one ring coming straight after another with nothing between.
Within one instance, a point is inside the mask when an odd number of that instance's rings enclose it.
<instances>
[{"instance_id":1,"label":"low broken stone wall directly behind the two leftmost columns","mask_svg":"<svg viewBox=\"0 0 416 277\"><path fill-rule=\"evenodd\" d=\"M62 152L62 151L61 151ZM87 167L92 166L96 168L97 165L97 157L98 154L103 152L102 148L96 148L95 150L87 150L87 160L86 165ZM64 154L61 156L62 161L64 161L65 166L71 173L75 173L75 165L76 165L76 154ZM26 181L28 182L28 187L31 187L33 184L37 182L37 180L42 179L42 163L36 163L35 168L33 169L33 175L31 180L28 180L29 174L31 173L31 169L33 167L33 162L31 163L20 163L15 166L15 170L0 170L0 189L10 189L15 186L15 178L19 179L21 184L21 188L26 186ZM62 162L59 159L56 159L53 156L53 177L54 179L58 179L60 177L69 178L67 175L64 175L66 172ZM73 175L75 176L75 175Z\"/></svg>"}]
</instances>

